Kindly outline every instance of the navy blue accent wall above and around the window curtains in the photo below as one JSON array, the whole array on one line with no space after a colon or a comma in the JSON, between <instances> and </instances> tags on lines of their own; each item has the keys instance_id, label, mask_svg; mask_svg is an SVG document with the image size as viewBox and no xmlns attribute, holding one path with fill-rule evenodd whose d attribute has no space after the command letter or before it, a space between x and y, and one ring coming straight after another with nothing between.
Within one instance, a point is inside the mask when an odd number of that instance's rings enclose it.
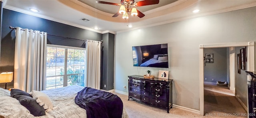
<instances>
[{"instance_id":1,"label":"navy blue accent wall above and around the window curtains","mask_svg":"<svg viewBox=\"0 0 256 118\"><path fill-rule=\"evenodd\" d=\"M14 72L15 31L9 29L9 26L39 30L47 32L48 34L60 35L63 37L72 37L76 39L90 39L96 41L102 40L101 33L84 30L82 28L77 28L51 20L38 18L12 10L3 9L0 72ZM85 41L80 41L76 39L68 39L48 35L47 43L54 45L85 47ZM12 88L13 82L8 83L7 85L7 88ZM0 87L3 88L4 83L1 83Z\"/></svg>"}]
</instances>

